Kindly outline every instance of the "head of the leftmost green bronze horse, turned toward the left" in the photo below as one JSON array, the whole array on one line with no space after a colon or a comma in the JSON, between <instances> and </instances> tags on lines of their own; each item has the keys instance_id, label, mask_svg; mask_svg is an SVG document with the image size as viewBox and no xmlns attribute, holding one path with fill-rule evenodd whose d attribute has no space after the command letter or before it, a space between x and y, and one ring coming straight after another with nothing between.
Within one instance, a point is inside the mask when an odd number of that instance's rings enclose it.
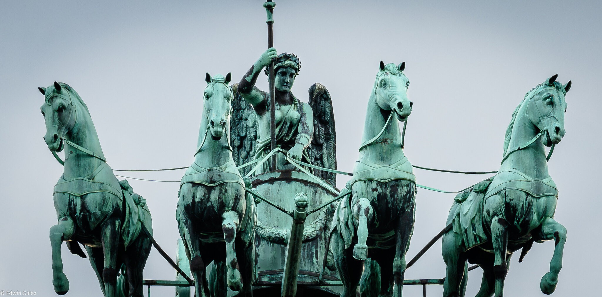
<instances>
[{"instance_id":1,"label":"head of the leftmost green bronze horse, turned toward the left","mask_svg":"<svg viewBox=\"0 0 602 297\"><path fill-rule=\"evenodd\" d=\"M44 95L40 110L46 122L44 140L48 149L55 152L63 150L63 138L75 127L77 111L73 99L78 98L75 90L63 82L54 82L46 88L38 88Z\"/></svg>"}]
</instances>

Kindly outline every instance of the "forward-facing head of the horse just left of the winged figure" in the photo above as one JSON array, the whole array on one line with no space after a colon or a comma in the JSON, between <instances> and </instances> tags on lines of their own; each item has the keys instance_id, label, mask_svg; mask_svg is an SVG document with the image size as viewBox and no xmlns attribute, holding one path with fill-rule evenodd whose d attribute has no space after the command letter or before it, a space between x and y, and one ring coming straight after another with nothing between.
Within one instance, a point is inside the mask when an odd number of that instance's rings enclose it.
<instances>
[{"instance_id":1,"label":"forward-facing head of the horse just left of the winged figure","mask_svg":"<svg viewBox=\"0 0 602 297\"><path fill-rule=\"evenodd\" d=\"M203 106L207 117L209 132L214 140L222 139L226 132L226 123L229 123L232 115L232 88L228 85L232 78L232 73L226 77L216 75L213 78L209 73L205 76L207 87L203 94Z\"/></svg>"}]
</instances>

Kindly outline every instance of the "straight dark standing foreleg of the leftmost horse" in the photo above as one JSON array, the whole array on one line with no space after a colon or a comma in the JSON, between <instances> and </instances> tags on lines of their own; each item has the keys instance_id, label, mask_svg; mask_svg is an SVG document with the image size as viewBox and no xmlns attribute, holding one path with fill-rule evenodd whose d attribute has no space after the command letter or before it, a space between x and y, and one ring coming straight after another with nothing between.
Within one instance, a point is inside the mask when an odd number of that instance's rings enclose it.
<instances>
[{"instance_id":1,"label":"straight dark standing foreleg of the leftmost horse","mask_svg":"<svg viewBox=\"0 0 602 297\"><path fill-rule=\"evenodd\" d=\"M104 269L102 269L102 280L105 283L105 296L117 296L117 251L119 250L121 224L119 219L110 218L102 224L102 251L104 253Z\"/></svg>"}]
</instances>

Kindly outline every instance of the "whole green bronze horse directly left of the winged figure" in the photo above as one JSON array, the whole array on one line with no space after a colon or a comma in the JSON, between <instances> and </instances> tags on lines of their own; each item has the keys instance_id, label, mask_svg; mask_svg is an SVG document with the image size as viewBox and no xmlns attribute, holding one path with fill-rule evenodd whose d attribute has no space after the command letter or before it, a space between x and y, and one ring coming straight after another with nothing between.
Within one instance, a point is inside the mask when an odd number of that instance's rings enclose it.
<instances>
[{"instance_id":1,"label":"whole green bronze horse directly left of the winged figure","mask_svg":"<svg viewBox=\"0 0 602 297\"><path fill-rule=\"evenodd\" d=\"M198 147L178 193L176 219L196 297L225 296L226 283L239 291L238 296L252 296L255 278L257 216L253 197L246 192L249 180L243 180L232 158L231 77L231 73L213 78L206 74ZM209 290L205 269L212 261L214 278Z\"/></svg>"}]
</instances>

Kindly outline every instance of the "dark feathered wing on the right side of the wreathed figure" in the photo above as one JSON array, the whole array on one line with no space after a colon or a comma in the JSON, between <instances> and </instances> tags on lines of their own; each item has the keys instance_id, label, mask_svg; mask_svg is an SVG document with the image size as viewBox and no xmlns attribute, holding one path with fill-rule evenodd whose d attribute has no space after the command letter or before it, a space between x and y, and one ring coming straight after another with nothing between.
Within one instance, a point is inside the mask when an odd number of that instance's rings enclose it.
<instances>
[{"instance_id":1,"label":"dark feathered wing on the right side of the wreathed figure","mask_svg":"<svg viewBox=\"0 0 602 297\"><path fill-rule=\"evenodd\" d=\"M335 115L332 110L330 93L321 84L309 87L309 106L314 111L314 139L309 145L309 160L312 165L328 169L337 169L337 132ZM314 170L332 186L337 184L337 174L323 170Z\"/></svg>"}]
</instances>

